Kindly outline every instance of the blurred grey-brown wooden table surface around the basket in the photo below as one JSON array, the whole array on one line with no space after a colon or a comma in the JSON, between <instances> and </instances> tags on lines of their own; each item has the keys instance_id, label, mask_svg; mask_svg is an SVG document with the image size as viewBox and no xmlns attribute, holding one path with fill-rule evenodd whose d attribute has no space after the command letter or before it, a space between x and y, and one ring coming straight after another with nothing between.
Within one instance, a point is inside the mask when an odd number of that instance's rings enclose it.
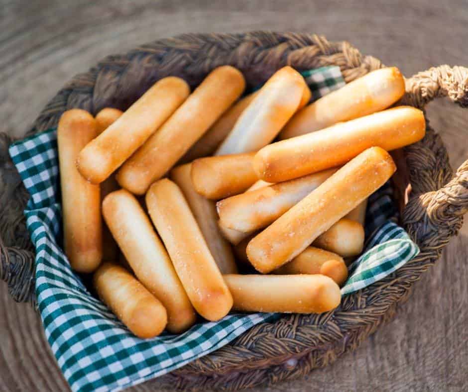
<instances>
[{"instance_id":1,"label":"blurred grey-brown wooden table surface around the basket","mask_svg":"<svg viewBox=\"0 0 468 392\"><path fill-rule=\"evenodd\" d=\"M0 0L0 130L22 135L68 79L102 57L185 32L316 32L349 40L406 76L442 63L468 66L468 3L428 3ZM428 114L458 167L468 158L468 110L437 101ZM467 258L465 225L397 316L358 350L267 390L467 391ZM0 391L67 390L38 316L0 284ZM132 391L149 390L157 383Z\"/></svg>"}]
</instances>

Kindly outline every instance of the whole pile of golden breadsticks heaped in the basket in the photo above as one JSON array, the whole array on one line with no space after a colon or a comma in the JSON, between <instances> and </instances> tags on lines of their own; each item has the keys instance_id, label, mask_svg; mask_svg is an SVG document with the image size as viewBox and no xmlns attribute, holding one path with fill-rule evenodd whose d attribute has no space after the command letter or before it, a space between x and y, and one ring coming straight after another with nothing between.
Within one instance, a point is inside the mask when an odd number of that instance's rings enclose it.
<instances>
[{"instance_id":1,"label":"whole pile of golden breadsticks heaped in the basket","mask_svg":"<svg viewBox=\"0 0 468 392\"><path fill-rule=\"evenodd\" d=\"M238 100L244 88L223 66L192 93L167 77L125 112L59 121L65 253L137 336L197 313L337 307L367 197L396 170L387 151L425 134L420 110L384 110L405 91L396 68L309 105L291 67Z\"/></svg>"}]
</instances>

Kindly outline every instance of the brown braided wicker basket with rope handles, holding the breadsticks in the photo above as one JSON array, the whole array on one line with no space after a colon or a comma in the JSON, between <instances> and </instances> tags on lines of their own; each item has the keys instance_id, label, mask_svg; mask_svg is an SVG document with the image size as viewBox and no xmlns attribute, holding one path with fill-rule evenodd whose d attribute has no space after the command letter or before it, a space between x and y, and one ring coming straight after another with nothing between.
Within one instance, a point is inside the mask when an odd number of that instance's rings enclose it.
<instances>
[{"instance_id":1,"label":"brown braided wicker basket with rope handles, holding the breadsticks","mask_svg":"<svg viewBox=\"0 0 468 392\"><path fill-rule=\"evenodd\" d=\"M92 113L106 106L125 109L168 75L179 76L194 87L213 68L225 64L240 69L249 86L264 83L284 65L298 70L338 65L346 82L382 67L379 60L362 56L348 42L328 42L312 34L182 35L109 56L76 76L42 110L27 135L56 126L60 115L72 107ZM437 97L467 106L468 69L441 66L408 79L402 103L423 109ZM0 134L0 277L15 300L34 301L34 254L22 214L28 194L8 158L10 142ZM402 209L402 224L421 249L415 259L380 282L344 297L333 312L288 315L259 324L155 383L169 389L240 389L298 377L355 349L389 320L412 284L458 233L468 209L468 161L454 176L444 144L429 124L425 138L400 156L400 167L406 165L408 170L400 170L407 176L397 179L399 189L405 188L405 180L412 187Z\"/></svg>"}]
</instances>

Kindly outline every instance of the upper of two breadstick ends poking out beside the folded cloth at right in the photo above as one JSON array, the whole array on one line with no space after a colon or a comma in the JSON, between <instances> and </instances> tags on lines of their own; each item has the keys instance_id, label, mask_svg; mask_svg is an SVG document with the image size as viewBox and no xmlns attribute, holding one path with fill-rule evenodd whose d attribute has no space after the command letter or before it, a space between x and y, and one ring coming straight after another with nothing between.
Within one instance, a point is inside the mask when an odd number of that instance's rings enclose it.
<instances>
[{"instance_id":1,"label":"upper of two breadstick ends poking out beside the folded cloth at right","mask_svg":"<svg viewBox=\"0 0 468 392\"><path fill-rule=\"evenodd\" d=\"M364 247L364 228L359 222L342 218L320 234L312 245L342 257L357 256Z\"/></svg>"}]
</instances>

